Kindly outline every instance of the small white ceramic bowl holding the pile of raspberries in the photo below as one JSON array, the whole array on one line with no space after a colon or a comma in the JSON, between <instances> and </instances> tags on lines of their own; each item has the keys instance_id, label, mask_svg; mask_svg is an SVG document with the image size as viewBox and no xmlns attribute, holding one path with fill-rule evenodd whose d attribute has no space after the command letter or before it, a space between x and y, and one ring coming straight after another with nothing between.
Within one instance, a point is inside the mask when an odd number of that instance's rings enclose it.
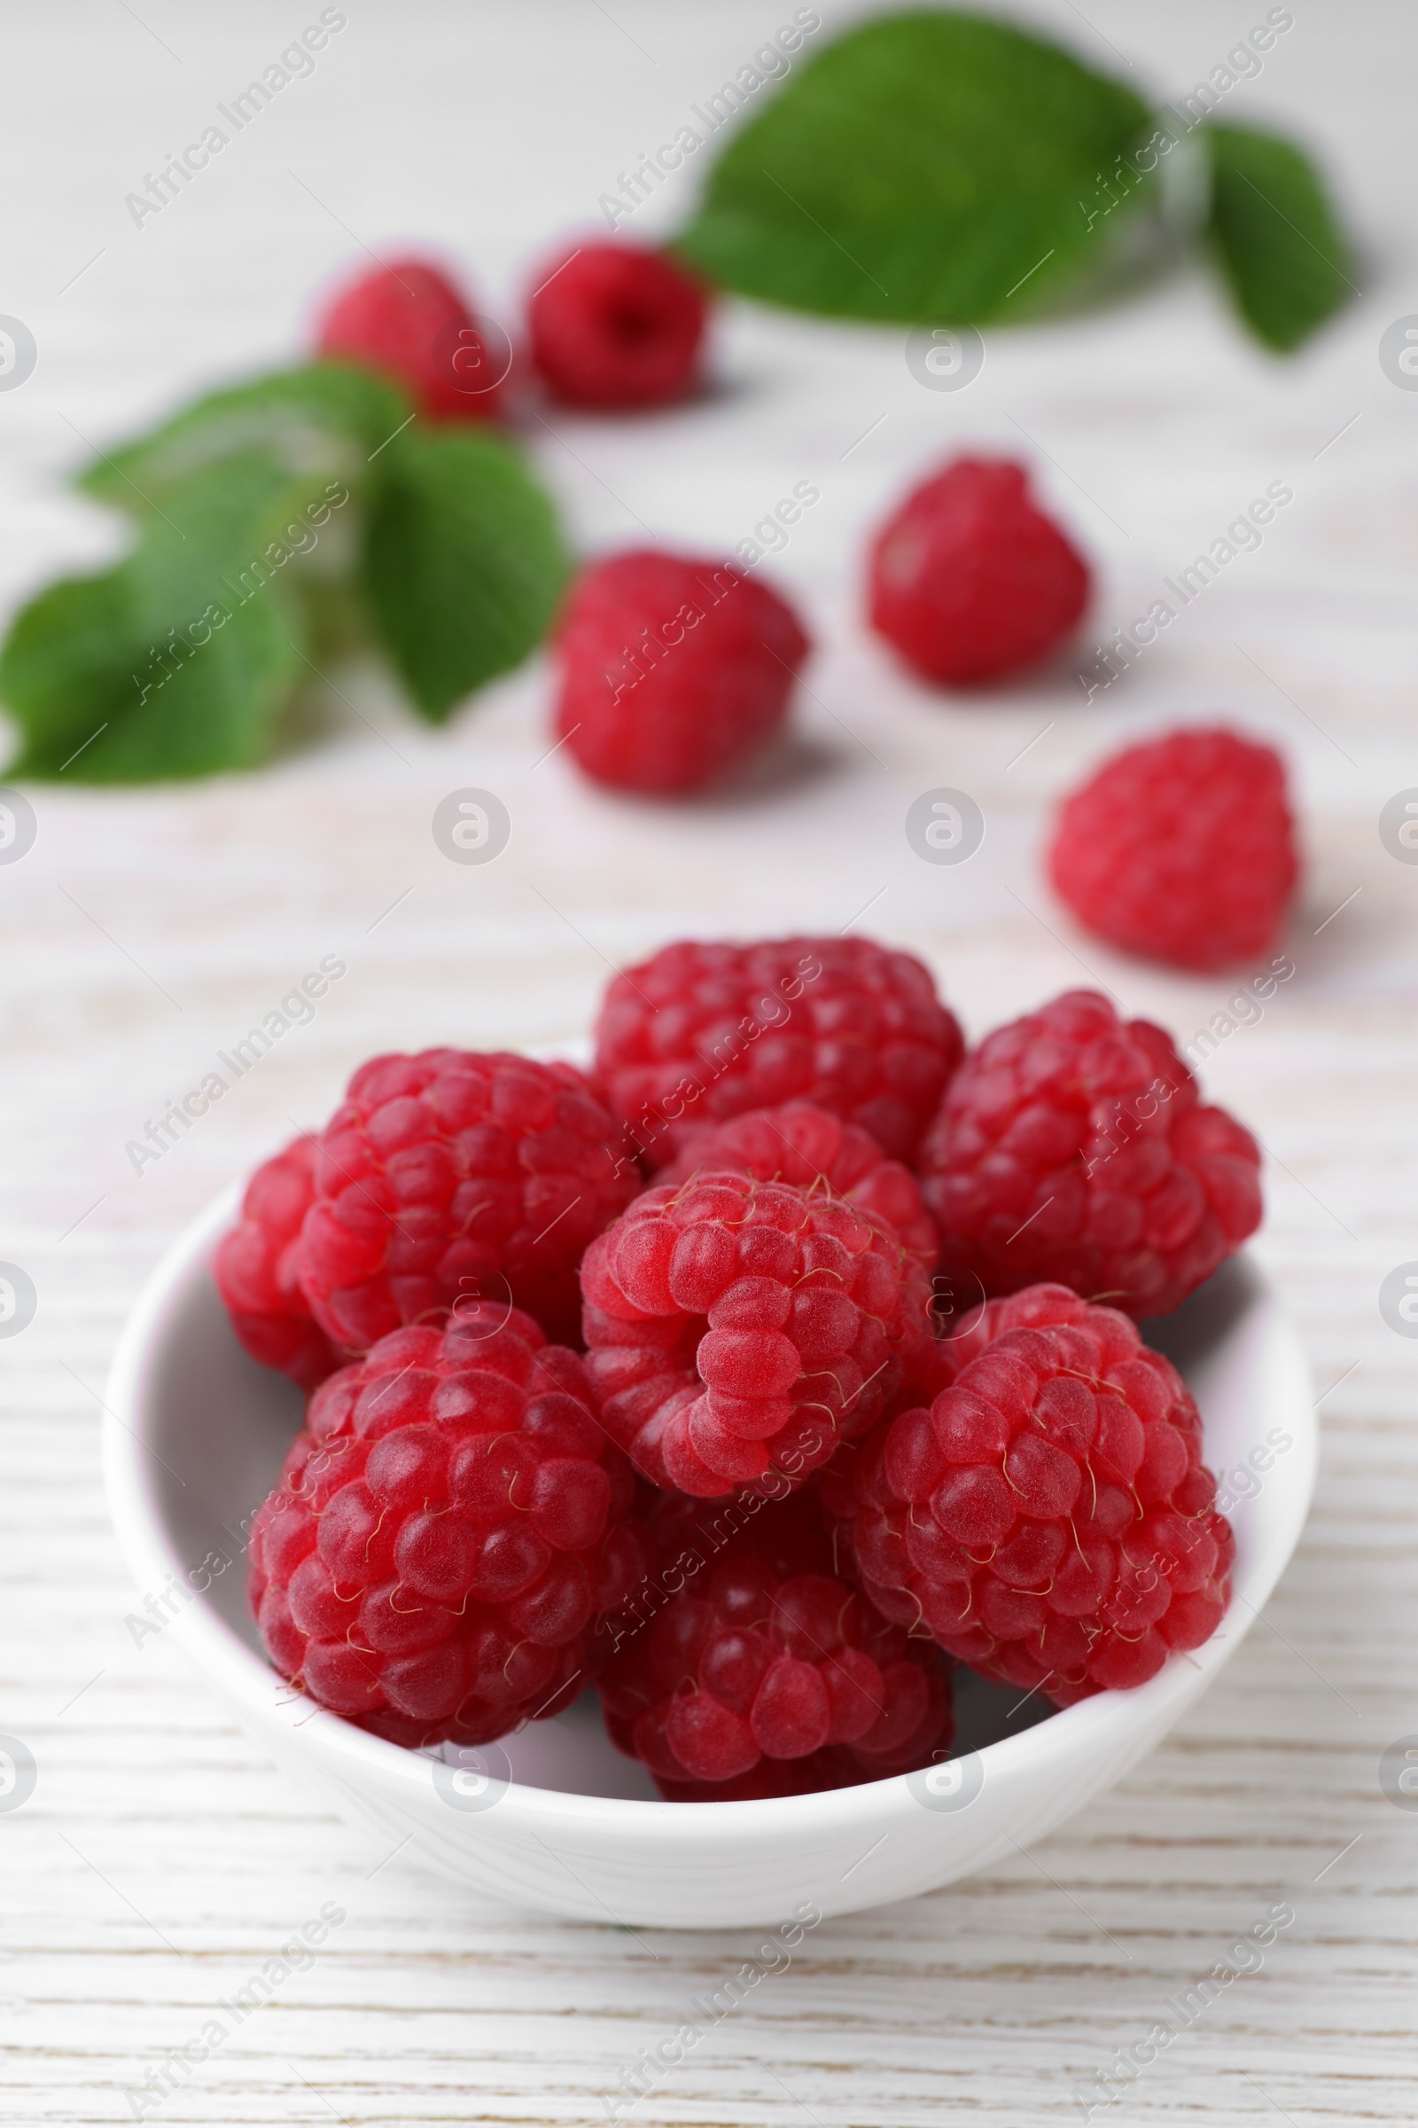
<instances>
[{"instance_id":1,"label":"small white ceramic bowl holding the pile of raspberries","mask_svg":"<svg viewBox=\"0 0 1418 2128\"><path fill-rule=\"evenodd\" d=\"M1252 1451L1265 1464L1231 1517L1235 1600L1195 1656L1174 1656L1137 1692L1063 1713L1037 1698L1018 1711L1018 1694L965 1679L948 1766L829 1794L659 1802L644 1770L606 1743L593 1700L504 1739L506 1758L487 1753L491 1775L470 1777L313 1709L261 1656L242 1528L300 1424L300 1394L240 1351L213 1285L213 1247L236 1202L227 1192L174 1243L113 1364L104 1460L132 1573L145 1594L172 1581L196 1592L170 1632L281 1764L374 1824L389 1849L408 1843L425 1864L521 1907L731 1928L787 1922L801 1902L850 1913L984 1868L1042 1839L1167 1734L1246 1634L1305 1522L1318 1434L1305 1364L1276 1296L1239 1260L1150 1332L1201 1404L1212 1468L1229 1473ZM1267 1451L1267 1434L1290 1445ZM495 1777L508 1768L510 1781Z\"/></svg>"}]
</instances>

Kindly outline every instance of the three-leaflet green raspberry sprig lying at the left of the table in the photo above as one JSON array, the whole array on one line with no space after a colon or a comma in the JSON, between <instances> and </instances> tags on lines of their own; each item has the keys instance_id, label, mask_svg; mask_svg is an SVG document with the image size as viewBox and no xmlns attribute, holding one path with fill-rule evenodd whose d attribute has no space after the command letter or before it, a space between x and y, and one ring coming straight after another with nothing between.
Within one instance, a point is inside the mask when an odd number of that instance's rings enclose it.
<instances>
[{"instance_id":1,"label":"three-leaflet green raspberry sprig lying at the left of the table","mask_svg":"<svg viewBox=\"0 0 1418 2128\"><path fill-rule=\"evenodd\" d=\"M568 570L551 500L504 438L415 426L402 392L336 362L215 392L81 485L138 538L13 624L0 700L26 747L11 775L253 766L306 653L368 636L366 617L440 721L534 649Z\"/></svg>"}]
</instances>

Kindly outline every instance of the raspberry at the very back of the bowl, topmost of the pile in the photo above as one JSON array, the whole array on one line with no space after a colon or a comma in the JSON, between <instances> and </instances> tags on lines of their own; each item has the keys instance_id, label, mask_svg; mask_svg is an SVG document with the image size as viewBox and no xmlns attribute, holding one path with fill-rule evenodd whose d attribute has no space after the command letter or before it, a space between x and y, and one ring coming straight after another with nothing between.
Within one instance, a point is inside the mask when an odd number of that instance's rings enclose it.
<instances>
[{"instance_id":1,"label":"raspberry at the very back of the bowl, topmost of the pile","mask_svg":"<svg viewBox=\"0 0 1418 2128\"><path fill-rule=\"evenodd\" d=\"M610 983L595 1070L651 1164L672 1160L697 1121L784 1100L829 1109L891 1160L912 1160L963 1047L910 953L870 938L682 943Z\"/></svg>"}]
</instances>

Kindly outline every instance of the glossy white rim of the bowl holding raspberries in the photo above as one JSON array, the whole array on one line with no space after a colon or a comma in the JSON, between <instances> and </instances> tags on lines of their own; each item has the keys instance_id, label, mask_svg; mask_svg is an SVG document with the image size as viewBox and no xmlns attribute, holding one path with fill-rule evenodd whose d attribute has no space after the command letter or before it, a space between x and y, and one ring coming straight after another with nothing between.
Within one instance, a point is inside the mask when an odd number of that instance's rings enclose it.
<instances>
[{"instance_id":1,"label":"glossy white rim of the bowl holding raspberries","mask_svg":"<svg viewBox=\"0 0 1418 2128\"><path fill-rule=\"evenodd\" d=\"M168 1575L181 1579L185 1573L151 1479L149 1458L157 1456L147 1439L153 1415L153 1375L193 1285L198 1279L210 1277L210 1256L219 1236L232 1226L242 1192L244 1181L230 1183L174 1236L142 1283L108 1370L102 1422L104 1485L119 1545L140 1587L159 1587ZM1027 1781L1037 1768L1061 1758L1095 1762L1118 1753L1125 1764L1131 1764L1129 1745L1137 1745L1137 1739L1148 1739L1152 1732L1165 1732L1225 1668L1299 1543L1318 1466L1318 1417L1310 1370L1271 1281L1248 1253L1242 1253L1237 1262L1250 1279L1250 1307L1263 1307L1288 1332L1286 1358L1297 1383L1305 1390L1303 1404L1310 1424L1297 1432L1293 1453L1286 1453L1288 1483L1261 1490L1261 1498L1271 1492L1273 1502L1290 1502L1288 1513L1273 1515L1269 1524L1256 1517L1252 1558L1244 1573L1233 1577L1227 1617L1210 1641L1193 1649L1191 1656L1171 1656L1146 1685L1127 1692L1099 1692L1074 1707L1057 1709L1046 1722L982 1745L980 1760L986 1777L993 1777L991 1785ZM315 1707L302 1694L289 1694L283 1700L278 1673L247 1647L202 1596L181 1609L172 1628L198 1670L208 1679L219 1673L227 1694L249 1711L261 1730L270 1730L272 1724L302 1730L308 1743L317 1743L315 1730L319 1730L317 1749L327 1770L344 1768L353 1783L372 1777L383 1792L406 1788L410 1800L415 1790L427 1788L429 1768L436 1762L432 1753L410 1751L383 1736L372 1736L340 1715ZM521 1824L523 1830L534 1832L538 1824L555 1822L559 1830L585 1828L587 1834L597 1836L634 1832L638 1841L648 1839L657 1847L676 1847L691 1830L697 1834L712 1830L725 1836L770 1836L789 1832L791 1826L795 1841L814 1832L850 1830L853 1824L867 1832L882 1824L884 1813L895 1819L916 1809L910 1775L891 1775L855 1788L812 1790L804 1796L702 1802L693 1811L659 1798L587 1796L576 1790L536 1788L514 1779L500 1798L497 1817L508 1830Z\"/></svg>"}]
</instances>

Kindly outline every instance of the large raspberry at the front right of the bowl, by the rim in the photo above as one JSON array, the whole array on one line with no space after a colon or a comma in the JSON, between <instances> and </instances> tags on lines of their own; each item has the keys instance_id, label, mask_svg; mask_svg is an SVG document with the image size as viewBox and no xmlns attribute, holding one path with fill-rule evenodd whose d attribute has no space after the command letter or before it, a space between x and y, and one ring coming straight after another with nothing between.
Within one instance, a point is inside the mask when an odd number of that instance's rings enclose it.
<instances>
[{"instance_id":1,"label":"large raspberry at the front right of the bowl, by the rim","mask_svg":"<svg viewBox=\"0 0 1418 2128\"><path fill-rule=\"evenodd\" d=\"M929 1411L876 1428L857 1458L853 1545L887 1617L1067 1707L1201 1647L1235 1543L1171 1362L1116 1309L1065 1309L1054 1290L1035 1315Z\"/></svg>"}]
</instances>

